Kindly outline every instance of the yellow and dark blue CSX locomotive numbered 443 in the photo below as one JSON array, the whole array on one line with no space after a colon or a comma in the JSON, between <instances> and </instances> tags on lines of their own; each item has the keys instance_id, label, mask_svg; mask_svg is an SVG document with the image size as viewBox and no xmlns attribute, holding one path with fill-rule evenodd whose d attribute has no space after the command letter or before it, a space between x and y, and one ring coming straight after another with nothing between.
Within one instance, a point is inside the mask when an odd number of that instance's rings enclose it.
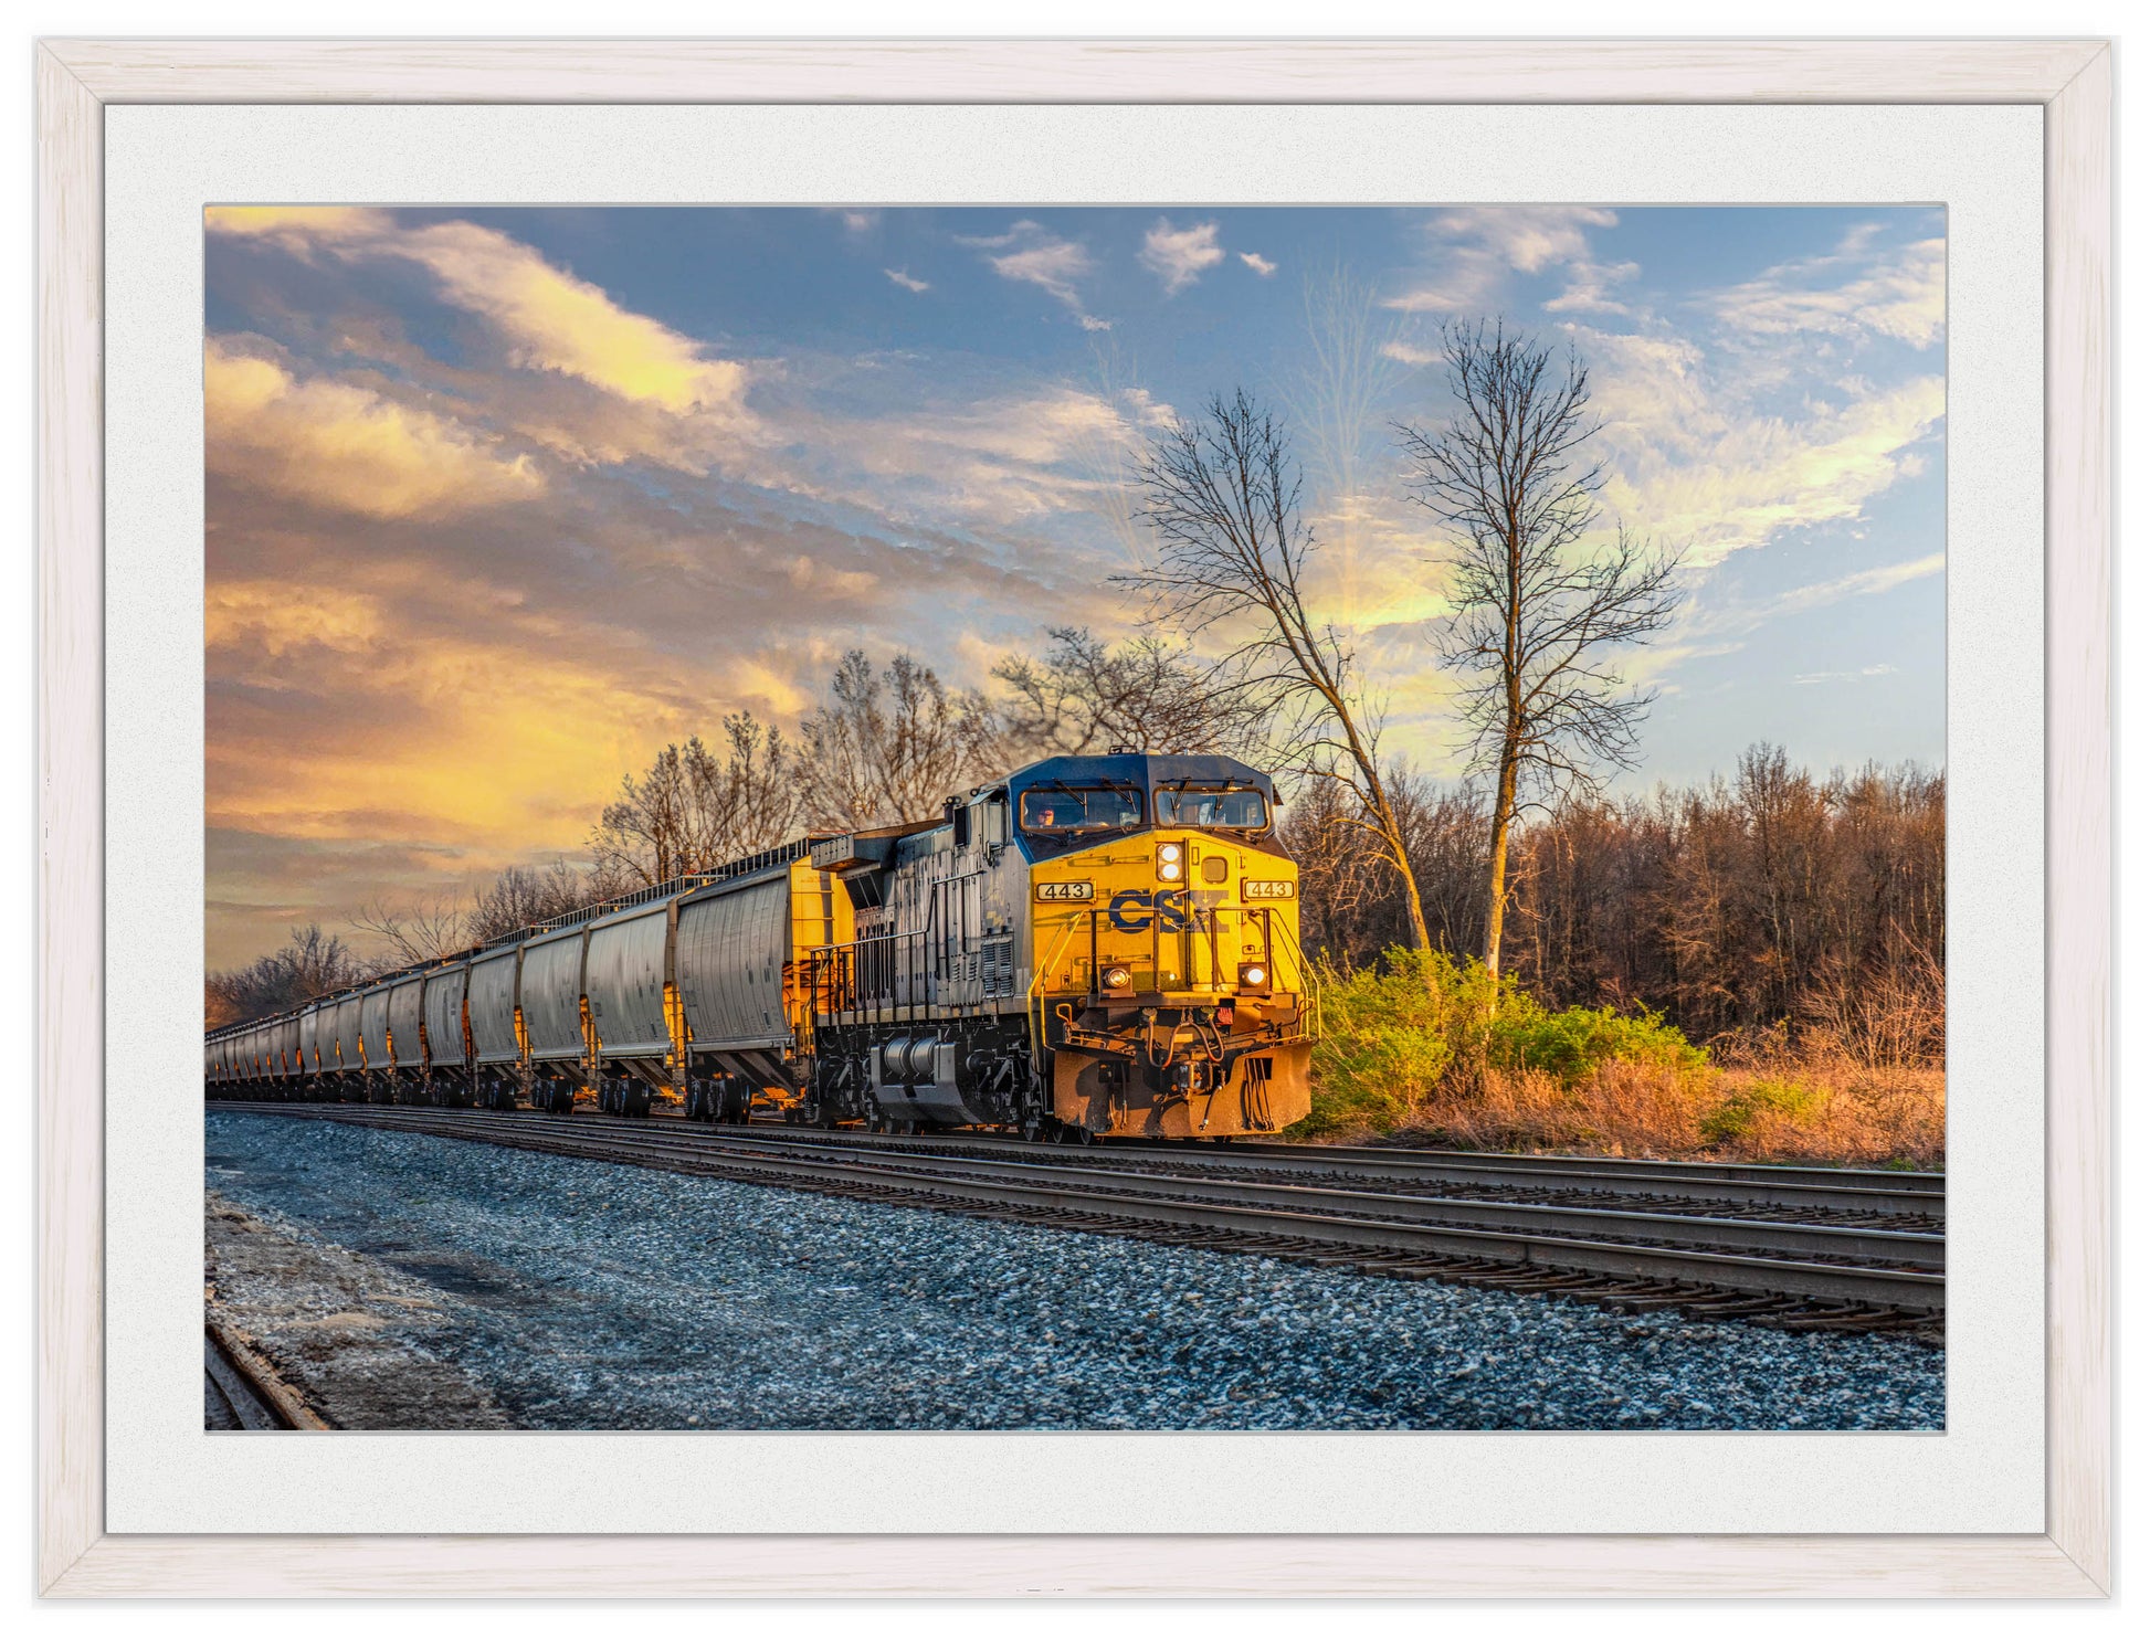
<instances>
[{"instance_id":1,"label":"yellow and dark blue CSX locomotive numbered 443","mask_svg":"<svg viewBox=\"0 0 2150 1638\"><path fill-rule=\"evenodd\" d=\"M813 862L856 937L811 961L811 1118L1086 1141L1307 1113L1299 871L1247 763L1054 757Z\"/></svg>"}]
</instances>

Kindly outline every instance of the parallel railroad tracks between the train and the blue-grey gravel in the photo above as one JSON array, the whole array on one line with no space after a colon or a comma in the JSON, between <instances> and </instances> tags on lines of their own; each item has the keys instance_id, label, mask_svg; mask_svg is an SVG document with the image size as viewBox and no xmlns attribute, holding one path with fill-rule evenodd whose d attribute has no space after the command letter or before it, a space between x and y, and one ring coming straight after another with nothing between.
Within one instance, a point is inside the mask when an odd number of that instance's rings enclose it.
<instances>
[{"instance_id":1,"label":"parallel railroad tracks between the train and the blue-grey gravel","mask_svg":"<svg viewBox=\"0 0 2150 1638\"><path fill-rule=\"evenodd\" d=\"M1632 1311L1681 1307L1800 1331L1894 1328L1929 1337L1944 1313L1939 1191L1931 1178L1929 1187L1896 1182L1903 1174L1800 1172L1769 1180L1742 1176L1763 1167L1666 1169L1632 1161L1593 1167L1533 1156L1277 1152L1281 1146L1060 1150L393 1105L217 1107L1398 1279L1559 1292ZM1868 1187L1864 1178L1875 1176L1890 1182Z\"/></svg>"}]
</instances>

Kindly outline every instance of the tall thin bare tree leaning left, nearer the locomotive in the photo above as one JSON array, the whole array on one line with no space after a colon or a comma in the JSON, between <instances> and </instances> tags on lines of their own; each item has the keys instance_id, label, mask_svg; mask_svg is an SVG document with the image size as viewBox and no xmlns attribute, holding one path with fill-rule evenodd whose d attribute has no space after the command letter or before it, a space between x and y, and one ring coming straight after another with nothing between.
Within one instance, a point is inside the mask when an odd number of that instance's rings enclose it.
<instances>
[{"instance_id":1,"label":"tall thin bare tree leaning left, nearer the locomotive","mask_svg":"<svg viewBox=\"0 0 2150 1638\"><path fill-rule=\"evenodd\" d=\"M1299 514L1284 426L1245 389L1213 396L1200 417L1150 443L1137 486L1157 559L1118 578L1146 593L1159 619L1223 643L1219 675L1268 724L1277 765L1350 795L1339 823L1378 840L1404 888L1410 939L1432 948L1380 767L1378 712L1354 679L1344 634L1307 610L1316 540Z\"/></svg>"}]
</instances>

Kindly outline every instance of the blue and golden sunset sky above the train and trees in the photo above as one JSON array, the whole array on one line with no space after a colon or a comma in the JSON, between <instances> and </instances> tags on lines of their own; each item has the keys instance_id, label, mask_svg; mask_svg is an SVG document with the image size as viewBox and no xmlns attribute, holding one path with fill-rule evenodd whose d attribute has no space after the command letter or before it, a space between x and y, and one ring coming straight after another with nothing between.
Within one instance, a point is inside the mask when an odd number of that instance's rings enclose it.
<instances>
[{"instance_id":1,"label":"blue and golden sunset sky above the train and trees","mask_svg":"<svg viewBox=\"0 0 2150 1638\"><path fill-rule=\"evenodd\" d=\"M1288 419L1312 602L1458 776L1393 426L1443 322L1591 374L1600 531L1683 552L1619 789L1944 755L1944 219L1905 209L295 209L206 217L206 959L580 853L836 658L1142 630L1129 462Z\"/></svg>"}]
</instances>

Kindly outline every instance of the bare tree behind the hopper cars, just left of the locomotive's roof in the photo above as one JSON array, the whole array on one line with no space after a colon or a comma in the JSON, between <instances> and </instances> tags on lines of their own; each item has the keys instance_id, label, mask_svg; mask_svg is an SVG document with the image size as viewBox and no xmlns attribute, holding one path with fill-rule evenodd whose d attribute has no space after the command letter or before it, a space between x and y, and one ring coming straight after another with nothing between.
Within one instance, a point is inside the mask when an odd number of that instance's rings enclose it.
<instances>
[{"instance_id":1,"label":"bare tree behind the hopper cars, just left of the locomotive's roof","mask_svg":"<svg viewBox=\"0 0 2150 1638\"><path fill-rule=\"evenodd\" d=\"M950 793L995 772L998 739L983 694L950 690L907 653L875 673L866 653L851 649L830 679L830 699L800 722L806 819L931 819Z\"/></svg>"}]
</instances>

